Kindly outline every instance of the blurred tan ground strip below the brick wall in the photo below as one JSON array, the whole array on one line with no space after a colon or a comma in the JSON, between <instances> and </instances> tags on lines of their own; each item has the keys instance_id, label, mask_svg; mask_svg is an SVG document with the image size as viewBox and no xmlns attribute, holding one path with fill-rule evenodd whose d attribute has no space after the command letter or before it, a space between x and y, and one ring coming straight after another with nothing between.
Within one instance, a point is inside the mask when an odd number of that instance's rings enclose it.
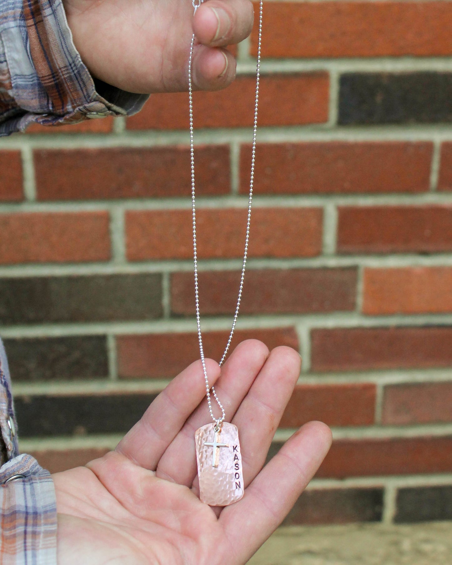
<instances>
[{"instance_id":1,"label":"blurred tan ground strip below the brick wall","mask_svg":"<svg viewBox=\"0 0 452 565\"><path fill-rule=\"evenodd\" d=\"M248 565L452 565L452 522L286 527Z\"/></svg>"}]
</instances>

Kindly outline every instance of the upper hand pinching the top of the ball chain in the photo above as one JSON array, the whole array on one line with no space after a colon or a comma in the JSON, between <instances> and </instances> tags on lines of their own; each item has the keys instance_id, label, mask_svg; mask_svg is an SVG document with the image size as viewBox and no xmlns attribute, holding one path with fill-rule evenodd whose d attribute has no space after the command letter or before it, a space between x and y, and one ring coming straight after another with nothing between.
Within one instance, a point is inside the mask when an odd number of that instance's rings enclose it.
<instances>
[{"instance_id":1,"label":"upper hand pinching the top of the ball chain","mask_svg":"<svg viewBox=\"0 0 452 565\"><path fill-rule=\"evenodd\" d=\"M253 27L249 0L209 0L193 18L192 0L63 0L72 37L93 76L128 92L188 90L193 32L193 85L231 84L236 61L227 45Z\"/></svg>"}]
</instances>

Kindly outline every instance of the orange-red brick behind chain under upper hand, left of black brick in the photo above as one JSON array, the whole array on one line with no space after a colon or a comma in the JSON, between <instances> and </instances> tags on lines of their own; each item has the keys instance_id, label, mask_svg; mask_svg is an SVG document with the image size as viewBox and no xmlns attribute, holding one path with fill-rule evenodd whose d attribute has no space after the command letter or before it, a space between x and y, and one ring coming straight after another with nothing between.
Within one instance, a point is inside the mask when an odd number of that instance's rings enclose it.
<instances>
[{"instance_id":1,"label":"orange-red brick behind chain under upper hand, left of black brick","mask_svg":"<svg viewBox=\"0 0 452 565\"><path fill-rule=\"evenodd\" d=\"M238 76L225 90L195 92L194 127L252 127L255 88L255 76ZM328 99L328 73L263 75L259 87L259 126L323 123L328 120ZM128 129L188 127L186 93L153 94L139 114L127 119Z\"/></svg>"}]
</instances>

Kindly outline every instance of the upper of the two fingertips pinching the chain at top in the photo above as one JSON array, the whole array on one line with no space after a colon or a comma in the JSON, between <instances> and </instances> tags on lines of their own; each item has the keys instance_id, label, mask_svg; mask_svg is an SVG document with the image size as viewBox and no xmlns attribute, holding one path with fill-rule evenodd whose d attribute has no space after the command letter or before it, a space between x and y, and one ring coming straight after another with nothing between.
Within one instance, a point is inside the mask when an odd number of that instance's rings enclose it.
<instances>
[{"instance_id":1,"label":"upper of the two fingertips pinching the chain at top","mask_svg":"<svg viewBox=\"0 0 452 565\"><path fill-rule=\"evenodd\" d=\"M209 0L196 11L193 32L203 45L225 47L248 37L253 19L249 0Z\"/></svg>"}]
</instances>

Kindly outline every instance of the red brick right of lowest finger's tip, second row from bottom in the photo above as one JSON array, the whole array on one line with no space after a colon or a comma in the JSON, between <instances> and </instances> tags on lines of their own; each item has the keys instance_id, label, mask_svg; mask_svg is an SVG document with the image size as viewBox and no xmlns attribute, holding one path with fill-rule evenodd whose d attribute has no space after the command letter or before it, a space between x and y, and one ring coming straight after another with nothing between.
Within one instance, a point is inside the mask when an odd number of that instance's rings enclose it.
<instances>
[{"instance_id":1,"label":"red brick right of lowest finger's tip, second row from bottom","mask_svg":"<svg viewBox=\"0 0 452 565\"><path fill-rule=\"evenodd\" d=\"M451 436L336 440L316 477L450 473L451 453Z\"/></svg>"}]
</instances>

